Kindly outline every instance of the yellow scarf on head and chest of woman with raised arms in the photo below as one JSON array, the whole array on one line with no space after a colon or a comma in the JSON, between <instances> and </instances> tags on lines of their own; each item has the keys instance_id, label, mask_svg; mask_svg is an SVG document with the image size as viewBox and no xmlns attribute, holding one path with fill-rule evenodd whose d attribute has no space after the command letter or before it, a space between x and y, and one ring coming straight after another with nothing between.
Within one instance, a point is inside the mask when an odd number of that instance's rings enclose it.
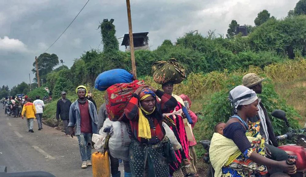
<instances>
[{"instance_id":1,"label":"yellow scarf on head and chest of woman with raised arms","mask_svg":"<svg viewBox=\"0 0 306 177\"><path fill-rule=\"evenodd\" d=\"M140 98L140 101L146 99L149 96L152 96L152 95L151 94L144 95L143 97ZM144 114L146 115L152 114L155 111L155 107L152 112L147 112L140 105L138 110L139 110L138 136L141 138L145 138L145 139L151 139L152 136L151 136L151 128L150 128L149 120L144 116Z\"/></svg>"}]
</instances>

